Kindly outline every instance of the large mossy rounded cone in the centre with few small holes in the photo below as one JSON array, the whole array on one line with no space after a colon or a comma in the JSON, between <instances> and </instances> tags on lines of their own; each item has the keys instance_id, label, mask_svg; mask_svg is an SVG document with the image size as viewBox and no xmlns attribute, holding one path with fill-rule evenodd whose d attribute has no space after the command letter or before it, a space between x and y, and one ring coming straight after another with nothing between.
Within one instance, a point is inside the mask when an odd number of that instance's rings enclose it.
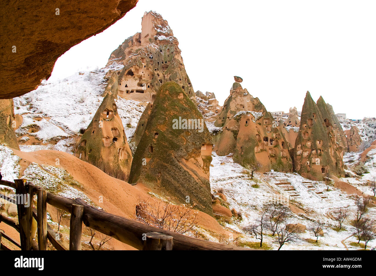
<instances>
[{"instance_id":1,"label":"large mossy rounded cone in the centre with few small holes","mask_svg":"<svg viewBox=\"0 0 376 276\"><path fill-rule=\"evenodd\" d=\"M211 136L201 113L180 84L157 94L135 155L129 182L141 182L173 202L213 214L209 183Z\"/></svg>"}]
</instances>

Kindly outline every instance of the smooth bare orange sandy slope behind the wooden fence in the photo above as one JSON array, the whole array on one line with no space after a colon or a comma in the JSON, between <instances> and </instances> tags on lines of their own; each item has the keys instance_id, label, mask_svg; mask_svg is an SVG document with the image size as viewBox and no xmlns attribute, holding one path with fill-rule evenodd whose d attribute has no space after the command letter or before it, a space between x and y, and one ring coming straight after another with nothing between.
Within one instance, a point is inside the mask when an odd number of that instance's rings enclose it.
<instances>
[{"instance_id":1,"label":"smooth bare orange sandy slope behind the wooden fence","mask_svg":"<svg viewBox=\"0 0 376 276\"><path fill-rule=\"evenodd\" d=\"M135 186L122 181L120 179L113 178L97 167L74 157L71 154L42 150L34 152L22 152L14 150L14 154L20 158L20 163L35 162L38 164L51 165L61 167L67 170L74 179L82 184L84 187L81 192L85 193L88 198L95 204L102 207L109 213L116 214L118 216L124 216L132 218L135 214L136 203L139 198L148 199L151 195L148 194L149 190L139 183ZM56 165L56 159L59 160L59 165ZM103 203L100 202L100 197L103 197ZM158 200L152 198L151 200ZM53 213L53 212L52 212ZM54 214L52 214L54 220ZM218 222L208 214L199 212L197 216L199 226L216 234L228 235L229 231L223 229ZM113 241L116 249L129 249L128 246L124 246L120 242Z\"/></svg>"}]
</instances>

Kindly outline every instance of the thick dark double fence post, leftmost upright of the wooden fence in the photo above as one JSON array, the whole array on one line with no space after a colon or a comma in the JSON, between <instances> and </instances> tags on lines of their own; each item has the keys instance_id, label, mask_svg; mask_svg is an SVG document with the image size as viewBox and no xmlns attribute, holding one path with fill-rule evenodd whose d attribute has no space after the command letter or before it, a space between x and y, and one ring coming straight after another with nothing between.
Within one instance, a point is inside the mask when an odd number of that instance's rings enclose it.
<instances>
[{"instance_id":1,"label":"thick dark double fence post, leftmost upright of the wooden fence","mask_svg":"<svg viewBox=\"0 0 376 276\"><path fill-rule=\"evenodd\" d=\"M33 185L27 185L26 179L14 179L16 186L16 200L18 223L20 225L20 241L22 250L32 249L32 211L33 211ZM28 205L26 206L26 198Z\"/></svg>"}]
</instances>

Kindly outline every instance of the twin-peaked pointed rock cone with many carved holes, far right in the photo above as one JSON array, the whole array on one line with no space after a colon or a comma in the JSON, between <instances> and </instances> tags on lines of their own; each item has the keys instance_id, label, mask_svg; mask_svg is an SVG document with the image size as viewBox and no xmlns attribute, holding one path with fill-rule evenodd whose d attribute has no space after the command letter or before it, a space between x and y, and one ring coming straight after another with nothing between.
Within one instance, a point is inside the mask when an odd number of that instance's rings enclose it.
<instances>
[{"instance_id":1,"label":"twin-peaked pointed rock cone with many carved holes, far right","mask_svg":"<svg viewBox=\"0 0 376 276\"><path fill-rule=\"evenodd\" d=\"M344 176L343 148L334 125L323 98L316 104L307 91L294 149L294 168L303 177Z\"/></svg>"}]
</instances>

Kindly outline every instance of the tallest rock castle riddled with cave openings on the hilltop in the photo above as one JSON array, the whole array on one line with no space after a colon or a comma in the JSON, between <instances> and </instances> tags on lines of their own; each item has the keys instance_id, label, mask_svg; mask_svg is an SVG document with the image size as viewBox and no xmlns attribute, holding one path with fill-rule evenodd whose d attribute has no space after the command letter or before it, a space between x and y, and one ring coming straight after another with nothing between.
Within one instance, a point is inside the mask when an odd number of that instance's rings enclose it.
<instances>
[{"instance_id":1,"label":"tallest rock castle riddled with cave openings on the hilltop","mask_svg":"<svg viewBox=\"0 0 376 276\"><path fill-rule=\"evenodd\" d=\"M195 102L191 81L180 55L179 42L170 26L156 12L145 12L141 33L127 38L111 53L106 66L119 75L118 95L153 102L166 81L175 81Z\"/></svg>"}]
</instances>

